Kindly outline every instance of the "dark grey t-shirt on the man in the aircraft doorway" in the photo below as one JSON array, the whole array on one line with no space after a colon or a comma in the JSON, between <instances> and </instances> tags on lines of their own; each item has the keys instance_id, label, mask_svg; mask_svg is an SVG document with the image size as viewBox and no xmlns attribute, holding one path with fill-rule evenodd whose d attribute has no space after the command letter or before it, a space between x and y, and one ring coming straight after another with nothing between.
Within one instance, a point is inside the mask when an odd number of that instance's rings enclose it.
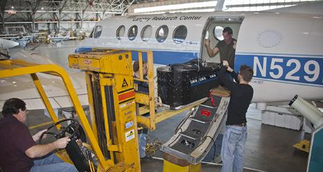
<instances>
[{"instance_id":1,"label":"dark grey t-shirt on the man in the aircraft doorway","mask_svg":"<svg viewBox=\"0 0 323 172\"><path fill-rule=\"evenodd\" d=\"M222 40L216 44L216 47L220 49L220 61L227 60L229 62L229 67L234 69L234 54L236 50L234 49L234 41L236 39L232 38L230 44L225 44L225 40Z\"/></svg>"}]
</instances>

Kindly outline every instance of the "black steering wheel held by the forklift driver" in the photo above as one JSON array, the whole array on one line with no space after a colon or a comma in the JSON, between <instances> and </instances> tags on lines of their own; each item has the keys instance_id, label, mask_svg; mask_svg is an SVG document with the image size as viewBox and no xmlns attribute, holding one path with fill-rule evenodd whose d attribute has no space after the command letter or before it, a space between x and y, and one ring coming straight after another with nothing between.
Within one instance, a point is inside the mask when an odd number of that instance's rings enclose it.
<instances>
[{"instance_id":1,"label":"black steering wheel held by the forklift driver","mask_svg":"<svg viewBox=\"0 0 323 172\"><path fill-rule=\"evenodd\" d=\"M63 123L65 121L71 121L71 123L66 128L62 126L61 130L59 130L58 133L49 131L54 126L57 126L58 124ZM65 137L66 133L69 133L71 135L71 136L69 136L69 138L73 138L78 133L78 131L79 131L78 128L80 128L80 123L78 123L78 121L76 119L63 119L58 122L55 122L51 126L49 126L49 128L47 128L46 132L42 133L42 135L40 136L39 144L42 144L42 138L46 134L53 135L56 139L60 139L62 137Z\"/></svg>"}]
</instances>

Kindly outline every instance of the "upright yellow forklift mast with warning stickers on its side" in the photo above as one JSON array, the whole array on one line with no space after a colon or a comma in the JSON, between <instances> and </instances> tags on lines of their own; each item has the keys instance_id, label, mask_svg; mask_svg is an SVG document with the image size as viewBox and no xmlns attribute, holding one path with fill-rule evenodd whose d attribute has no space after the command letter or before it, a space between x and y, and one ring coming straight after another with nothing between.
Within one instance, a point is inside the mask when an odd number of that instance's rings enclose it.
<instances>
[{"instance_id":1,"label":"upright yellow forklift mast with warning stickers on its side","mask_svg":"<svg viewBox=\"0 0 323 172\"><path fill-rule=\"evenodd\" d=\"M105 157L141 171L132 56L130 51L69 55L69 66L85 71L91 128Z\"/></svg>"}]
</instances>

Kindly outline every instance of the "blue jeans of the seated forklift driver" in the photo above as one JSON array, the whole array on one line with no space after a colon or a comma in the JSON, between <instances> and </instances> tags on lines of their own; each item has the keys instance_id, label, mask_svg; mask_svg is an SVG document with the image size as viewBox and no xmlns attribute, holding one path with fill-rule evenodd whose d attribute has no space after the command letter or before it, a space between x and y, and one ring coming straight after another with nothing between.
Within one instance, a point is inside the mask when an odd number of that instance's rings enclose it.
<instances>
[{"instance_id":1,"label":"blue jeans of the seated forklift driver","mask_svg":"<svg viewBox=\"0 0 323 172\"><path fill-rule=\"evenodd\" d=\"M38 171L39 172L42 172L42 171L77 172L78 170L72 164L69 164L67 162L63 162L62 160L60 160L60 158L53 153L52 155L49 155L48 157L45 157L43 159L34 160L34 166L31 167L30 172L38 172Z\"/></svg>"}]
</instances>

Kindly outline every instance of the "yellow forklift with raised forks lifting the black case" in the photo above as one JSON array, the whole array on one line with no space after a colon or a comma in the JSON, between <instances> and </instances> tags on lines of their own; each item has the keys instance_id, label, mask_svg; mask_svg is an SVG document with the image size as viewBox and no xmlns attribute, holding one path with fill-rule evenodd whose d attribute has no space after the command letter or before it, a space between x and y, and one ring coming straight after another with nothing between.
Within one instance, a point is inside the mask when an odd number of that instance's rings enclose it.
<instances>
[{"instance_id":1,"label":"yellow forklift with raised forks lifting the black case","mask_svg":"<svg viewBox=\"0 0 323 172\"><path fill-rule=\"evenodd\" d=\"M141 171L137 124L155 130L155 123L189 110L205 100L197 101L181 110L164 110L155 114L152 52L138 53L140 77L137 80L149 83L149 94L135 93L131 51L107 50L69 55L70 67L85 71L91 124L80 105L67 71L62 67L39 65L24 60L2 60L0 78L31 76L53 120L49 129L58 129L58 133L55 133L56 139L65 135L71 137L71 145L67 146L66 151L60 150L57 154L63 160L73 163L78 171ZM141 72L142 53L148 56L148 80L143 79ZM40 73L62 78L80 123L75 119L58 121L37 77ZM136 108L136 103L145 106ZM149 117L141 116L146 112L150 112ZM62 127L65 121L69 121L69 124ZM82 142L86 140L82 135L83 130L89 144Z\"/></svg>"}]
</instances>

